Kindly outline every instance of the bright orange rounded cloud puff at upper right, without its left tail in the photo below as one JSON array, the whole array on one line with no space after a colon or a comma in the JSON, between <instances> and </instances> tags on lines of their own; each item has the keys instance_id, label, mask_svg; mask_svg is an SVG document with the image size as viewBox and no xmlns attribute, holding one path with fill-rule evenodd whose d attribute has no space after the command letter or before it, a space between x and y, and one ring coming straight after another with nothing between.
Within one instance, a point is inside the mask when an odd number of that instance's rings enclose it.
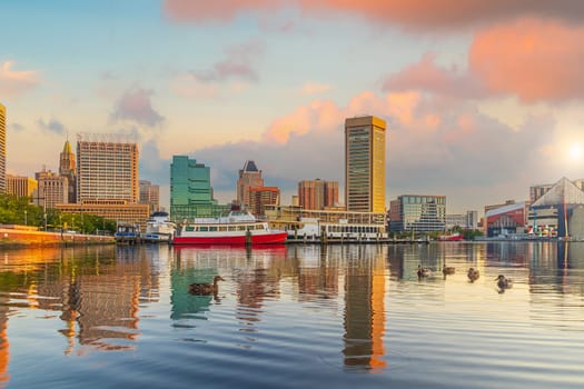
<instances>
[{"instance_id":1,"label":"bright orange rounded cloud puff at upper right, without its left tail","mask_svg":"<svg viewBox=\"0 0 584 389\"><path fill-rule=\"evenodd\" d=\"M528 18L479 30L468 66L494 93L560 101L583 98L583 59L584 27Z\"/></svg>"}]
</instances>

